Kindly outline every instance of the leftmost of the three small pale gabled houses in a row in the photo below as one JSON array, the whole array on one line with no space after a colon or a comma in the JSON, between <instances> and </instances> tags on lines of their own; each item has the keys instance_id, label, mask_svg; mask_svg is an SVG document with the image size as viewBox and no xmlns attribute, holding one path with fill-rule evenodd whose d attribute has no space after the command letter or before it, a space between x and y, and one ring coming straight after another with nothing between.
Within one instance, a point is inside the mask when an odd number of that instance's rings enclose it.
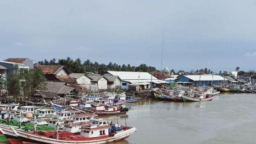
<instances>
[{"instance_id":1,"label":"leftmost of the three small pale gabled houses in a row","mask_svg":"<svg viewBox=\"0 0 256 144\"><path fill-rule=\"evenodd\" d=\"M84 87L91 85L91 78L83 73L71 73L69 76L75 79L78 85Z\"/></svg>"}]
</instances>

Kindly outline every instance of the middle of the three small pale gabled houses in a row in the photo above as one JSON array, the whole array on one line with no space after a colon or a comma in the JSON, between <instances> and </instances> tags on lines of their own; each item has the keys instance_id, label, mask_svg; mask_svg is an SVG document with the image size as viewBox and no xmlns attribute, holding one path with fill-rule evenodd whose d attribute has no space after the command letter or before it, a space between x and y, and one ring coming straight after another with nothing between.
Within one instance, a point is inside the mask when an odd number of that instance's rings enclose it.
<instances>
[{"instance_id":1,"label":"middle of the three small pale gabled houses in a row","mask_svg":"<svg viewBox=\"0 0 256 144\"><path fill-rule=\"evenodd\" d=\"M97 85L99 90L107 89L107 79L101 75L88 75L91 78L91 84Z\"/></svg>"}]
</instances>

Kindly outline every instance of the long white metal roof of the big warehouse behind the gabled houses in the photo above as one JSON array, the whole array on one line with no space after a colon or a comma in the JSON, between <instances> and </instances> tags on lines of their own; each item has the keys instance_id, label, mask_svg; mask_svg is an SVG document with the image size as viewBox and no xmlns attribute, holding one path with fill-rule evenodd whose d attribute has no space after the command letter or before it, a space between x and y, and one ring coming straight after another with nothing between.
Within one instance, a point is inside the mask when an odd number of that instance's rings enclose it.
<instances>
[{"instance_id":1,"label":"long white metal roof of the big warehouse behind the gabled houses","mask_svg":"<svg viewBox=\"0 0 256 144\"><path fill-rule=\"evenodd\" d=\"M117 72L117 71L107 71L113 76L119 76L121 80L151 80L151 74L148 72ZM139 78L140 76L140 78ZM152 79L157 79L152 76Z\"/></svg>"}]
</instances>

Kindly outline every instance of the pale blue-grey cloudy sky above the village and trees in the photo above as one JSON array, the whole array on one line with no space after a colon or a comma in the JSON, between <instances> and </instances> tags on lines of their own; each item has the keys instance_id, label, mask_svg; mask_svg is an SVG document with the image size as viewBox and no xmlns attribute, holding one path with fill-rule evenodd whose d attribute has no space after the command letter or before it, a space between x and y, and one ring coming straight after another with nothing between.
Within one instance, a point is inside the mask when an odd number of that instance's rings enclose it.
<instances>
[{"instance_id":1,"label":"pale blue-grey cloudy sky above the village and trees","mask_svg":"<svg viewBox=\"0 0 256 144\"><path fill-rule=\"evenodd\" d=\"M164 31L164 37L163 37ZM0 60L256 70L256 0L0 0Z\"/></svg>"}]
</instances>

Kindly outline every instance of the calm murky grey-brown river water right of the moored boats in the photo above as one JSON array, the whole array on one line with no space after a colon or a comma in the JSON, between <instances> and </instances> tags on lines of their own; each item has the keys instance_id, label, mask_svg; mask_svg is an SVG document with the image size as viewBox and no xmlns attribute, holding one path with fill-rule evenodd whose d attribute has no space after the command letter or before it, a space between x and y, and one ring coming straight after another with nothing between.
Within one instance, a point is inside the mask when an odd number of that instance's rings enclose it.
<instances>
[{"instance_id":1,"label":"calm murky grey-brown river water right of the moored boats","mask_svg":"<svg viewBox=\"0 0 256 144\"><path fill-rule=\"evenodd\" d=\"M127 125L137 132L115 144L256 144L255 98L223 93L207 102L126 104Z\"/></svg>"}]
</instances>

